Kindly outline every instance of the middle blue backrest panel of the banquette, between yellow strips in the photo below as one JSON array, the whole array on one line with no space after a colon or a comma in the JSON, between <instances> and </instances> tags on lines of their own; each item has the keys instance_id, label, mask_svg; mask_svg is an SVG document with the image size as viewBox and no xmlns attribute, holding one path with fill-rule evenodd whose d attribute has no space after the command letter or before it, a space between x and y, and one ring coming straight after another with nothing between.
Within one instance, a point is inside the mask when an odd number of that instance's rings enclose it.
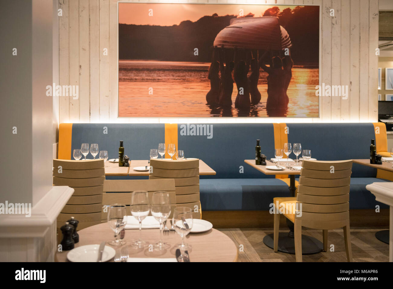
<instances>
[{"instance_id":1,"label":"middle blue backrest panel of the banquette, between yellow strips","mask_svg":"<svg viewBox=\"0 0 393 289\"><path fill-rule=\"evenodd\" d=\"M187 125L187 124L185 124ZM191 125L191 124L190 124ZM213 127L213 137L206 135L182 135L182 124L178 124L178 148L185 157L202 159L216 176L207 178L263 178L266 176L244 163L255 159L256 140L261 140L261 152L269 159L274 157L273 124L207 124ZM244 173L240 173L243 166Z\"/></svg>"}]
</instances>

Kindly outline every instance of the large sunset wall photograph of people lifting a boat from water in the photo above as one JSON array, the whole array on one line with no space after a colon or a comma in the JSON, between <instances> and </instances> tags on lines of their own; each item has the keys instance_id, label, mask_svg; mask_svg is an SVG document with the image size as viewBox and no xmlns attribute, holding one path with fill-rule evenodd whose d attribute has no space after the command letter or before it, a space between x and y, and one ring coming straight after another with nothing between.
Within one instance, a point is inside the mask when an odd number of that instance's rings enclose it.
<instances>
[{"instance_id":1,"label":"large sunset wall photograph of people lifting a boat from water","mask_svg":"<svg viewBox=\"0 0 393 289\"><path fill-rule=\"evenodd\" d=\"M319 117L319 6L118 5L119 117Z\"/></svg>"}]
</instances>

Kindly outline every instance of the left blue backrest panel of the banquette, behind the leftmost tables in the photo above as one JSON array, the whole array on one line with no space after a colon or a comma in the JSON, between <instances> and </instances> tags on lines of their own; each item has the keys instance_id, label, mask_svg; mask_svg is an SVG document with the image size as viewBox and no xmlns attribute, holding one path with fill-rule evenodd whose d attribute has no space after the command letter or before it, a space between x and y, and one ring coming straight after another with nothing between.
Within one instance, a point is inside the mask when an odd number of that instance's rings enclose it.
<instances>
[{"instance_id":1,"label":"left blue backrest panel of the banquette, behind the leftmost tables","mask_svg":"<svg viewBox=\"0 0 393 289\"><path fill-rule=\"evenodd\" d=\"M104 126L108 134L104 134ZM89 124L72 125L71 158L82 143L97 143L99 150L107 150L109 159L119 157L119 141L124 141L124 154L130 159L149 159L150 149L165 142L165 124ZM98 158L99 155L96 156ZM89 153L87 158L92 158Z\"/></svg>"}]
</instances>

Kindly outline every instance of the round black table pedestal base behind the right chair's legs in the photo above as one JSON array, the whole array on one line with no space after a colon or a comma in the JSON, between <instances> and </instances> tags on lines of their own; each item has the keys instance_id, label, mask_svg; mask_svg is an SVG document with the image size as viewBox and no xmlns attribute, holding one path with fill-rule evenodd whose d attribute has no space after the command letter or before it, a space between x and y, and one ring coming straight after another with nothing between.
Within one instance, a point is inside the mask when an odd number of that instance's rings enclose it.
<instances>
[{"instance_id":1,"label":"round black table pedestal base behind the right chair's legs","mask_svg":"<svg viewBox=\"0 0 393 289\"><path fill-rule=\"evenodd\" d=\"M274 248L273 234L263 238L263 243L269 248ZM316 238L301 235L301 252L302 255L310 255L322 252L323 244ZM295 239L288 237L288 233L278 234L278 251L288 254L295 254Z\"/></svg>"}]
</instances>

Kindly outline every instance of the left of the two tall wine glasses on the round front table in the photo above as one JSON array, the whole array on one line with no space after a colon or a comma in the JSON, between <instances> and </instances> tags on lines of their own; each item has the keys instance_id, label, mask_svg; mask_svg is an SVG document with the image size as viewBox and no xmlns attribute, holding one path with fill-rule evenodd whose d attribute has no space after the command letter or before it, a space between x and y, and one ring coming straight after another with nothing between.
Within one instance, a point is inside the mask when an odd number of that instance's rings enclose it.
<instances>
[{"instance_id":1,"label":"left of the two tall wine glasses on the round front table","mask_svg":"<svg viewBox=\"0 0 393 289\"><path fill-rule=\"evenodd\" d=\"M131 215L139 221L139 239L131 242L131 246L143 248L149 245L142 240L142 221L150 212L149 196L146 191L134 191L131 196Z\"/></svg>"}]
</instances>

